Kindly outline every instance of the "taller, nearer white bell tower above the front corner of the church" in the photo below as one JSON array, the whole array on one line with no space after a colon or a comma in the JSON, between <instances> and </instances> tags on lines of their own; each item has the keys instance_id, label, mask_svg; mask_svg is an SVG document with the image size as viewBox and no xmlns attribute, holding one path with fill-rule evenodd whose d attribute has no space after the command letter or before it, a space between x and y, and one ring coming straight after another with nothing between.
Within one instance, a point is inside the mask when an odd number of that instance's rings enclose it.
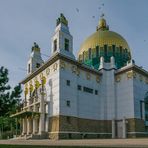
<instances>
[{"instance_id":1,"label":"taller, nearer white bell tower above the front corner of the church","mask_svg":"<svg viewBox=\"0 0 148 148\"><path fill-rule=\"evenodd\" d=\"M56 22L51 52L52 55L61 53L70 58L75 58L73 55L73 37L69 32L68 21L62 13Z\"/></svg>"}]
</instances>

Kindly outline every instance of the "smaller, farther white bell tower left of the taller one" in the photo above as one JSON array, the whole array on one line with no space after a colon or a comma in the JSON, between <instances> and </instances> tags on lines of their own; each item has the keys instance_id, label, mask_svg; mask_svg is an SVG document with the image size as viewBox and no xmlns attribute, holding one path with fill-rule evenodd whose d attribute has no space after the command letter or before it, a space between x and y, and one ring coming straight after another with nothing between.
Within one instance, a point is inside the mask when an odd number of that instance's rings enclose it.
<instances>
[{"instance_id":1,"label":"smaller, farther white bell tower left of the taller one","mask_svg":"<svg viewBox=\"0 0 148 148\"><path fill-rule=\"evenodd\" d=\"M27 64L27 74L33 73L37 68L39 68L44 61L41 57L40 47L36 42L34 42L34 46L32 47L30 58Z\"/></svg>"}]
</instances>

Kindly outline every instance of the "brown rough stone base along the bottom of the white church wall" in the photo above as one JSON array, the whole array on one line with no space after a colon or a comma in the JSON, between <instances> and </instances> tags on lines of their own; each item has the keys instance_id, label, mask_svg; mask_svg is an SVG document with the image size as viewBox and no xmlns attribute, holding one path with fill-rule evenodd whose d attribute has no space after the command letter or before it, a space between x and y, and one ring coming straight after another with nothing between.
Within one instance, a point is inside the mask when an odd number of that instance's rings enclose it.
<instances>
[{"instance_id":1,"label":"brown rough stone base along the bottom of the white church wall","mask_svg":"<svg viewBox=\"0 0 148 148\"><path fill-rule=\"evenodd\" d=\"M115 138L117 135L117 122L115 123ZM50 139L91 139L111 138L112 121L91 120L72 116L56 116L49 119ZM126 136L128 138L147 137L144 121L140 119L126 119Z\"/></svg>"}]
</instances>

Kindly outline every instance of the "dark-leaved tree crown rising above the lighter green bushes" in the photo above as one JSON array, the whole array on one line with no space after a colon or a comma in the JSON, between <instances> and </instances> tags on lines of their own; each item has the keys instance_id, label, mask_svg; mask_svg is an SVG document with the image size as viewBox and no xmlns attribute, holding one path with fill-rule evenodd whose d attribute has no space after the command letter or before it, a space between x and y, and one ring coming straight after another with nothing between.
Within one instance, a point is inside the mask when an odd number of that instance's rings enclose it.
<instances>
[{"instance_id":1,"label":"dark-leaved tree crown rising above the lighter green bushes","mask_svg":"<svg viewBox=\"0 0 148 148\"><path fill-rule=\"evenodd\" d=\"M9 116L20 104L21 85L18 84L11 91L8 84L8 69L0 68L0 116Z\"/></svg>"}]
</instances>

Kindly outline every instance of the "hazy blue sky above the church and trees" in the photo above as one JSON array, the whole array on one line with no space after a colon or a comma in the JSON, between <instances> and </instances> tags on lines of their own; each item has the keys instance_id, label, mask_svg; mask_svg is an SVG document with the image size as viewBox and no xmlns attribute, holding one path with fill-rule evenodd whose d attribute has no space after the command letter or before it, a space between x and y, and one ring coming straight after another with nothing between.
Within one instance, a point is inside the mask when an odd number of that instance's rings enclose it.
<instances>
[{"instance_id":1,"label":"hazy blue sky above the church and trees","mask_svg":"<svg viewBox=\"0 0 148 148\"><path fill-rule=\"evenodd\" d=\"M102 3L110 30L127 40L136 64L148 70L148 0L0 0L0 66L9 69L10 84L26 76L20 68L26 69L34 41L50 55L61 12L69 21L76 55L83 40L95 32Z\"/></svg>"}]
</instances>

